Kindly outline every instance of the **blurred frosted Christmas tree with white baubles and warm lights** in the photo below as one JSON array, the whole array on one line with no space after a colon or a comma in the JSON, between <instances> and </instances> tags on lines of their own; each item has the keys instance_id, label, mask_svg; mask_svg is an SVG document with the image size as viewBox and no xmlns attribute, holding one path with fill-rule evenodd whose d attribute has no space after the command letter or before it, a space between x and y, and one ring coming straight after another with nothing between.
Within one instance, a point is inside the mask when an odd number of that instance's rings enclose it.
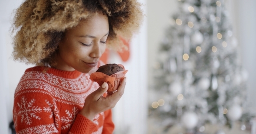
<instances>
[{"instance_id":1,"label":"blurred frosted Christmas tree with white baubles and warm lights","mask_svg":"<svg viewBox=\"0 0 256 134\"><path fill-rule=\"evenodd\" d=\"M223 0L178 0L155 65L150 118L191 133L206 123L249 122L248 73L240 61Z\"/></svg>"}]
</instances>

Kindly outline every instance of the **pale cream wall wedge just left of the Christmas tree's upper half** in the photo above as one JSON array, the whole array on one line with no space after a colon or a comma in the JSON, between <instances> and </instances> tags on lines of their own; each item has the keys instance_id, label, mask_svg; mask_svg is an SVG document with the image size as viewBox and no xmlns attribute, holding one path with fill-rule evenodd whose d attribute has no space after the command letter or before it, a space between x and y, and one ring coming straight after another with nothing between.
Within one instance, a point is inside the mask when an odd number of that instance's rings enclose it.
<instances>
[{"instance_id":1,"label":"pale cream wall wedge just left of the Christmas tree's upper half","mask_svg":"<svg viewBox=\"0 0 256 134\"><path fill-rule=\"evenodd\" d=\"M148 0L148 84L153 86L153 66L159 44L164 37L164 29L169 24L171 14L177 11L177 0Z\"/></svg>"}]
</instances>

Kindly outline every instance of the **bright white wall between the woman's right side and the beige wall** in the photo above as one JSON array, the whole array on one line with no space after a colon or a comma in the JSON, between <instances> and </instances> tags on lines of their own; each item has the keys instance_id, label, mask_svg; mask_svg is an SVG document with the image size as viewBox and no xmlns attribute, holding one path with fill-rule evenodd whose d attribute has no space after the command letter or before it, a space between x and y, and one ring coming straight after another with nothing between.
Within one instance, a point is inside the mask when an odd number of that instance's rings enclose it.
<instances>
[{"instance_id":1,"label":"bright white wall between the woman's right side and the beige wall","mask_svg":"<svg viewBox=\"0 0 256 134\"><path fill-rule=\"evenodd\" d=\"M147 1L143 10L147 13ZM112 53L109 63L121 63L128 69L125 93L113 109L115 134L146 134L147 131L147 17L139 34L135 34L130 44L130 58L121 62Z\"/></svg>"}]
</instances>

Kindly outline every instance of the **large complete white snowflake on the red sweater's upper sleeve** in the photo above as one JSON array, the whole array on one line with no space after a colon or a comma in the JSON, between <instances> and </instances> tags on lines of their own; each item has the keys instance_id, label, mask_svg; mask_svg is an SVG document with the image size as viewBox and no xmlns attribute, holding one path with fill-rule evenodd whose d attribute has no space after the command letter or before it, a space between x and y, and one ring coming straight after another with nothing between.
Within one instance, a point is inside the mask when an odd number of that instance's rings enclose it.
<instances>
[{"instance_id":1,"label":"large complete white snowflake on the red sweater's upper sleeve","mask_svg":"<svg viewBox=\"0 0 256 134\"><path fill-rule=\"evenodd\" d=\"M41 118L36 115L36 113L42 112L42 109L38 106L33 106L33 103L35 103L35 99L30 100L29 103L27 103L26 98L23 96L21 98L21 104L17 103L20 110L17 115L21 116L21 123L23 123L23 120L25 120L25 123L27 125L32 124L32 118L36 118L40 120Z\"/></svg>"}]
</instances>

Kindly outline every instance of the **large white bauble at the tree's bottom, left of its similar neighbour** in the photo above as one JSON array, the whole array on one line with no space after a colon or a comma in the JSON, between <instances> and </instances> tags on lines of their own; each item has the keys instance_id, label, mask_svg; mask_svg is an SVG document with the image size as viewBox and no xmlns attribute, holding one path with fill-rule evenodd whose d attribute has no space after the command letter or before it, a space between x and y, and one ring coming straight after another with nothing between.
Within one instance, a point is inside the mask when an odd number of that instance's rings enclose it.
<instances>
[{"instance_id":1,"label":"large white bauble at the tree's bottom, left of its similar neighbour","mask_svg":"<svg viewBox=\"0 0 256 134\"><path fill-rule=\"evenodd\" d=\"M197 126L198 117L194 112L186 112L181 118L181 123L187 128L192 129Z\"/></svg>"}]
</instances>

